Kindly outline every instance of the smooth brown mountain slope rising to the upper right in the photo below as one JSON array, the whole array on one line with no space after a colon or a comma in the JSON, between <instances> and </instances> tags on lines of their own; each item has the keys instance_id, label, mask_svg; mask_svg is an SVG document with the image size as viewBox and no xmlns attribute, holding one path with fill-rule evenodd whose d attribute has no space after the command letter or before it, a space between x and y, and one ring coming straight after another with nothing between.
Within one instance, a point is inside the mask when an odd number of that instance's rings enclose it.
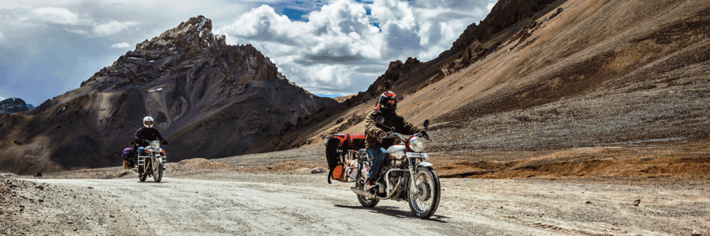
<instances>
[{"instance_id":1,"label":"smooth brown mountain slope rising to the upper right","mask_svg":"<svg viewBox=\"0 0 710 236\"><path fill-rule=\"evenodd\" d=\"M432 120L437 152L707 140L708 38L709 1L501 0L436 59L391 62L275 142L361 133L387 90L405 118Z\"/></svg>"}]
</instances>

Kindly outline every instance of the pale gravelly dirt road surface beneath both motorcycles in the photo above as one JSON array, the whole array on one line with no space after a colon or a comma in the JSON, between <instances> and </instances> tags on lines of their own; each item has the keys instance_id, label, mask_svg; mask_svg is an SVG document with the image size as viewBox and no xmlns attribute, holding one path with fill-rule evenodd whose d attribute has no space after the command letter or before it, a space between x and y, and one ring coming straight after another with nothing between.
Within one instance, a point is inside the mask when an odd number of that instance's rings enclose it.
<instances>
[{"instance_id":1,"label":"pale gravelly dirt road surface beneath both motorcycles","mask_svg":"<svg viewBox=\"0 0 710 236\"><path fill-rule=\"evenodd\" d=\"M362 208L324 174L23 178L4 180L23 209L0 204L8 235L710 235L708 181L442 179L421 220L406 202Z\"/></svg>"}]
</instances>

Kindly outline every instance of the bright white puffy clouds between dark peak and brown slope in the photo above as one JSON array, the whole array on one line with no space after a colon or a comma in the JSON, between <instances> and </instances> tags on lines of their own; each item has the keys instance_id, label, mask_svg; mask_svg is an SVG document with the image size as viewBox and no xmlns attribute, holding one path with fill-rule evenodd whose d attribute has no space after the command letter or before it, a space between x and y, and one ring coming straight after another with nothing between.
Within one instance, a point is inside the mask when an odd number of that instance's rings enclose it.
<instances>
[{"instance_id":1,"label":"bright white puffy clouds between dark peak and brown slope","mask_svg":"<svg viewBox=\"0 0 710 236\"><path fill-rule=\"evenodd\" d=\"M321 94L364 91L388 62L432 60L496 0L337 0L291 20L273 6L248 11L215 30L232 45L251 44L286 77Z\"/></svg>"}]
</instances>

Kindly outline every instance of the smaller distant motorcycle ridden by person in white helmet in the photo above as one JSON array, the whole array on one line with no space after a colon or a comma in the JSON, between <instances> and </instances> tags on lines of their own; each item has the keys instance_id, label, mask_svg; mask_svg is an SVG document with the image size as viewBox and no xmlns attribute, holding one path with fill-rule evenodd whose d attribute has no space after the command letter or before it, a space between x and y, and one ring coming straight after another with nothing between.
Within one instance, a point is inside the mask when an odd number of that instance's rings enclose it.
<instances>
[{"instance_id":1,"label":"smaller distant motorcycle ridden by person in white helmet","mask_svg":"<svg viewBox=\"0 0 710 236\"><path fill-rule=\"evenodd\" d=\"M160 183L163 179L163 164L165 164L165 150L160 148L160 141L151 141L151 145L145 148L145 152L138 153L136 167L138 168L138 179L146 181L148 175L153 176L155 183Z\"/></svg>"}]
</instances>

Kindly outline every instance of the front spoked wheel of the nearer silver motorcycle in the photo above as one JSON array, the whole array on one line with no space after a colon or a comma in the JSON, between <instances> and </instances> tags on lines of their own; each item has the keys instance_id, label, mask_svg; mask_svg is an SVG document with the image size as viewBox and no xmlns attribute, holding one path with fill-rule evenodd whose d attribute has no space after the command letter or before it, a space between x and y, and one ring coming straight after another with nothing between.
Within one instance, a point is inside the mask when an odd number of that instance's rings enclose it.
<instances>
[{"instance_id":1,"label":"front spoked wheel of the nearer silver motorcycle","mask_svg":"<svg viewBox=\"0 0 710 236\"><path fill-rule=\"evenodd\" d=\"M418 218L430 218L439 207L439 176L430 167L419 167L412 181L414 184L409 186L409 208Z\"/></svg>"}]
</instances>

